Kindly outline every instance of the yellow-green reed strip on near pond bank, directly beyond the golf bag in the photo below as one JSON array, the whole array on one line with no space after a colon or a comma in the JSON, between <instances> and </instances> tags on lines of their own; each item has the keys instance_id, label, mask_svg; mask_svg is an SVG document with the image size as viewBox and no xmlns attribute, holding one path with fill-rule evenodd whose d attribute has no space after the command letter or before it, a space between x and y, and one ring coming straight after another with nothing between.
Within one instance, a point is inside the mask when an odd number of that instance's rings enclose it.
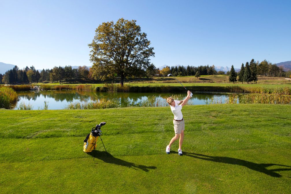
<instances>
[{"instance_id":1,"label":"yellow-green reed strip on near pond bank, directly beyond the golf bag","mask_svg":"<svg viewBox=\"0 0 291 194\"><path fill-rule=\"evenodd\" d=\"M99 102L75 102L68 104L65 108L68 109L104 109L104 108L118 108L121 107L117 100L100 99Z\"/></svg>"}]
</instances>

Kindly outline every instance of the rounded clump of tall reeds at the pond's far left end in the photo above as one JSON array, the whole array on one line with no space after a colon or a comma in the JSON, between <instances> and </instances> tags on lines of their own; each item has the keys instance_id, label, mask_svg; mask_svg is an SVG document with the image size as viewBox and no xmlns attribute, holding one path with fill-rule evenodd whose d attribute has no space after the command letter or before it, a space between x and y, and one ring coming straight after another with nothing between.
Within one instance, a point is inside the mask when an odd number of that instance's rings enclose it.
<instances>
[{"instance_id":1,"label":"rounded clump of tall reeds at the pond's far left end","mask_svg":"<svg viewBox=\"0 0 291 194\"><path fill-rule=\"evenodd\" d=\"M18 100L17 93L10 87L0 88L0 108L11 108Z\"/></svg>"}]
</instances>

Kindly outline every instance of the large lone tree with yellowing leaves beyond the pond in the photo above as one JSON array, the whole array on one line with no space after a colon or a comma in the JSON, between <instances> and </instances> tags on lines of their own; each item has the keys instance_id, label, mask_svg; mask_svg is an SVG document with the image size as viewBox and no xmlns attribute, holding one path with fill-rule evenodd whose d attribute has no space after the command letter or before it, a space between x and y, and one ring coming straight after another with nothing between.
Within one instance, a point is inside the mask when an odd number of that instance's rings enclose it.
<instances>
[{"instance_id":1,"label":"large lone tree with yellowing leaves beyond the pond","mask_svg":"<svg viewBox=\"0 0 291 194\"><path fill-rule=\"evenodd\" d=\"M103 22L95 30L95 36L88 46L92 49L90 60L95 79L105 80L120 77L123 86L127 76L139 76L141 70L150 65L150 57L155 56L149 47L147 35L141 32L136 20L118 19L116 24Z\"/></svg>"}]
</instances>

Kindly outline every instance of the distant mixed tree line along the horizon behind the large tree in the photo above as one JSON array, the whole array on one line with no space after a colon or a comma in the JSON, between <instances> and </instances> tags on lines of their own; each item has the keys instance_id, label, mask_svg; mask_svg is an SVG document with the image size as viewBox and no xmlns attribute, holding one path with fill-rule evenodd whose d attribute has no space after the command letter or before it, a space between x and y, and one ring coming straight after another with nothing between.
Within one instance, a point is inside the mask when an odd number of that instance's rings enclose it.
<instances>
[{"instance_id":1,"label":"distant mixed tree line along the horizon behind the large tree","mask_svg":"<svg viewBox=\"0 0 291 194\"><path fill-rule=\"evenodd\" d=\"M214 65L200 65L198 67L193 66L166 66L162 70L156 68L153 63L151 63L146 69L141 68L135 77L150 77L153 76L167 76L172 74L173 76L196 76L200 75L220 75L225 74L223 71L216 71ZM235 72L233 66L229 72L229 80L231 82L251 82L258 80L258 75L260 76L291 76L291 71L285 72L282 67L278 67L276 64L269 63L267 60L262 62L256 62L252 59L250 62L246 62L245 65L242 63L241 70L237 73ZM237 79L238 76L238 79ZM115 78L119 78L119 75L114 75ZM127 77L129 78L129 77ZM99 76L96 76L94 68L89 68L87 66L79 66L77 69L73 69L72 66L65 67L54 67L52 69L43 69L40 72L35 69L34 66L25 67L24 69L19 69L16 65L13 69L5 72L4 75L0 74L0 84L17 84L17 83L38 83L38 82L70 82L76 79L83 80L102 80Z\"/></svg>"}]
</instances>

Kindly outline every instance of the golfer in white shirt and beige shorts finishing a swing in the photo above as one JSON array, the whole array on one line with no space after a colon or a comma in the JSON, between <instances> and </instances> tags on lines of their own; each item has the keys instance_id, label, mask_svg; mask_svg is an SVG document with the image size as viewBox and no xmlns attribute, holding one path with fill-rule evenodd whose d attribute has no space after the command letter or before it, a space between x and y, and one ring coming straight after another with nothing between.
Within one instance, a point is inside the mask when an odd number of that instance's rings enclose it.
<instances>
[{"instance_id":1,"label":"golfer in white shirt and beige shorts finishing a swing","mask_svg":"<svg viewBox=\"0 0 291 194\"><path fill-rule=\"evenodd\" d=\"M180 156L182 156L182 143L183 143L183 139L184 139L184 129L185 129L185 122L183 119L183 115L182 115L182 107L188 102L188 100L192 97L191 92L188 90L187 92L187 97L182 100L182 101L178 101L178 100L174 100L172 97L168 97L167 98L167 102L169 103L170 107L171 107L171 111L174 114L174 131L175 131L175 136L171 139L169 145L167 145L166 147L166 153L170 154L170 148L171 145L177 140L179 139L179 149L178 149L178 154Z\"/></svg>"}]
</instances>

